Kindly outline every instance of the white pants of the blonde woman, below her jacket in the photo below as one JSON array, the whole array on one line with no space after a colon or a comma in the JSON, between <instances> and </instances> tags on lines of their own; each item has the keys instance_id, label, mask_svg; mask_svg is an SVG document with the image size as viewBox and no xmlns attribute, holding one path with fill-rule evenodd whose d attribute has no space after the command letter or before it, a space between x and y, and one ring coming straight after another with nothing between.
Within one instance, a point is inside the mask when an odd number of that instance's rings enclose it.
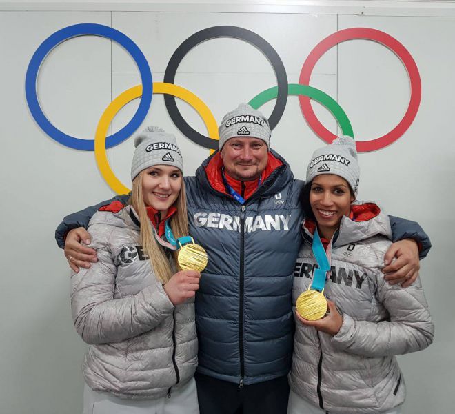
<instances>
[{"instance_id":1,"label":"white pants of the blonde woman, below her jacket","mask_svg":"<svg viewBox=\"0 0 455 414\"><path fill-rule=\"evenodd\" d=\"M124 400L110 393L93 391L87 384L83 391L82 414L199 414L196 382L172 390L158 400Z\"/></svg>"}]
</instances>

